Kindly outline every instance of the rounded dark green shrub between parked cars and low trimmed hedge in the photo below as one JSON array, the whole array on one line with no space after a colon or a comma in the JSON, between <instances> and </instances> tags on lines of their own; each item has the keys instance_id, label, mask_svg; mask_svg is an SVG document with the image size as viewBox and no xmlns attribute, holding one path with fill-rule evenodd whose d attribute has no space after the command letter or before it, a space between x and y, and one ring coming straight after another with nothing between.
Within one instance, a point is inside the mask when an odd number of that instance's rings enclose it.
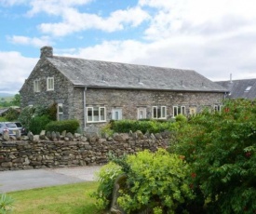
<instances>
[{"instance_id":1,"label":"rounded dark green shrub between parked cars and low trimmed hedge","mask_svg":"<svg viewBox=\"0 0 256 214\"><path fill-rule=\"evenodd\" d=\"M40 134L42 130L46 129L49 122L51 122L51 120L47 115L34 116L30 123L30 131L36 135Z\"/></svg>"}]
</instances>

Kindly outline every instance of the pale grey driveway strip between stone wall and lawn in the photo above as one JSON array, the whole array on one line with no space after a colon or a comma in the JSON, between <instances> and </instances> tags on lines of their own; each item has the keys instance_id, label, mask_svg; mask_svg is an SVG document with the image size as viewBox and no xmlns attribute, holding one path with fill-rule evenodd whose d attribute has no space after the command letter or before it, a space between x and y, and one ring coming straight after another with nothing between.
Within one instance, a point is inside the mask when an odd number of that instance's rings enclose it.
<instances>
[{"instance_id":1,"label":"pale grey driveway strip between stone wall and lawn","mask_svg":"<svg viewBox=\"0 0 256 214\"><path fill-rule=\"evenodd\" d=\"M95 181L101 166L61 167L0 172L0 194L67 183Z\"/></svg>"}]
</instances>

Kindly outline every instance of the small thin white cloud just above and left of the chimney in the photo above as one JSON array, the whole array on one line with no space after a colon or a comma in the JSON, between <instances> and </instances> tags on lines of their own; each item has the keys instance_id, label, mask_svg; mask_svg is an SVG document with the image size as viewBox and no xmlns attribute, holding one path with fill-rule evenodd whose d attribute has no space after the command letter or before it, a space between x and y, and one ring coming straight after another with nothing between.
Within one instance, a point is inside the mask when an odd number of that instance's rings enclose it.
<instances>
[{"instance_id":1,"label":"small thin white cloud just above and left of the chimney","mask_svg":"<svg viewBox=\"0 0 256 214\"><path fill-rule=\"evenodd\" d=\"M7 40L13 44L20 44L20 45L31 45L34 47L43 47L43 46L50 46L53 45L53 42L50 41L48 36L42 36L40 38L37 37L27 37L21 35L12 35L7 36Z\"/></svg>"}]
</instances>

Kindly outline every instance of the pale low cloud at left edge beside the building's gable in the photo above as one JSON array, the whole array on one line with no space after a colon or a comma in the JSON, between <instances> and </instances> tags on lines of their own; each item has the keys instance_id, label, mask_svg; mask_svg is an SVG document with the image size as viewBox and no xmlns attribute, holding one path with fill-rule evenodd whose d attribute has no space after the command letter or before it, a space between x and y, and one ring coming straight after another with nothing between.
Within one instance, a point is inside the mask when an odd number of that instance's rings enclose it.
<instances>
[{"instance_id":1,"label":"pale low cloud at left edge beside the building's gable","mask_svg":"<svg viewBox=\"0 0 256 214\"><path fill-rule=\"evenodd\" d=\"M37 60L22 57L18 52L0 52L0 91L18 93Z\"/></svg>"}]
</instances>

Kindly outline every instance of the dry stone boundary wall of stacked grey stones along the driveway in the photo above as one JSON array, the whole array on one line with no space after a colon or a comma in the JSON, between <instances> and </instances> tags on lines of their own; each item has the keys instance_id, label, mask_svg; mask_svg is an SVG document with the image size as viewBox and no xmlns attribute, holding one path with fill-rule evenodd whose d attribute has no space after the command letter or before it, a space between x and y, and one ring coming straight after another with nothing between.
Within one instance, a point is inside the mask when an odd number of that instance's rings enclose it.
<instances>
[{"instance_id":1,"label":"dry stone boundary wall of stacked grey stones along the driveway","mask_svg":"<svg viewBox=\"0 0 256 214\"><path fill-rule=\"evenodd\" d=\"M113 139L81 138L75 141L14 140L0 141L0 171L44 167L102 165L107 154L135 154L148 149L166 148L169 140L159 134L148 137L128 134Z\"/></svg>"}]
</instances>

